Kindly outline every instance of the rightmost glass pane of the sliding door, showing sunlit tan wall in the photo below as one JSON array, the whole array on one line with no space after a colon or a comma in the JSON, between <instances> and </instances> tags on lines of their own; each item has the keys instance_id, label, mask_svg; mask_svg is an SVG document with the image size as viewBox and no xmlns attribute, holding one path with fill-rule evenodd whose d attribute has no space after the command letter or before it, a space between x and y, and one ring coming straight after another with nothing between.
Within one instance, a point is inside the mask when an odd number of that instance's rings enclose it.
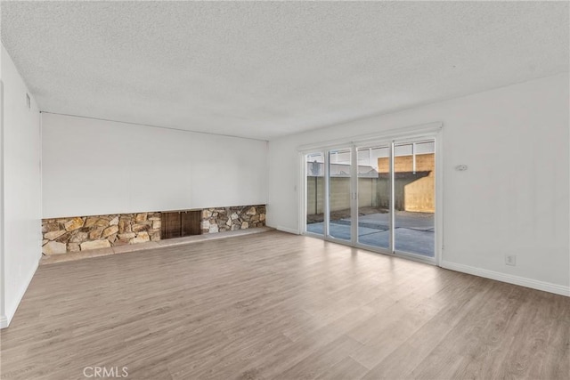
<instances>
[{"instance_id":1,"label":"rightmost glass pane of the sliding door, showing sunlit tan wall","mask_svg":"<svg viewBox=\"0 0 570 380\"><path fill-rule=\"evenodd\" d=\"M436 141L395 142L395 251L435 256Z\"/></svg>"}]
</instances>

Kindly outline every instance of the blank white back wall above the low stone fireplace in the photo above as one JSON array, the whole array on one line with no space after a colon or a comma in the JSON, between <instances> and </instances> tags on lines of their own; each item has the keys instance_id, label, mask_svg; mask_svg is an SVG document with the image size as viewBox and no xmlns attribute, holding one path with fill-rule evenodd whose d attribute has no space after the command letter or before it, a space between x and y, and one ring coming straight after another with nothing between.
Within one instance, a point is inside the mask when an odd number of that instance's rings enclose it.
<instances>
[{"instance_id":1,"label":"blank white back wall above the low stone fireplace","mask_svg":"<svg viewBox=\"0 0 570 380\"><path fill-rule=\"evenodd\" d=\"M43 217L266 203L267 142L42 113Z\"/></svg>"}]
</instances>

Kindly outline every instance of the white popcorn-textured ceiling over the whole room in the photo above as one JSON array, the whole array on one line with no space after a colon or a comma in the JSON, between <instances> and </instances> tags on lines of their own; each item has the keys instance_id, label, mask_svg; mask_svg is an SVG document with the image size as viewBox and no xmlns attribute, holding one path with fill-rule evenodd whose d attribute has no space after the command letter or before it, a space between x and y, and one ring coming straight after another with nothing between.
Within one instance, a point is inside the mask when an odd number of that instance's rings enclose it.
<instances>
[{"instance_id":1,"label":"white popcorn-textured ceiling over the whole room","mask_svg":"<svg viewBox=\"0 0 570 380\"><path fill-rule=\"evenodd\" d=\"M270 140L568 71L568 3L3 2L40 109Z\"/></svg>"}]
</instances>

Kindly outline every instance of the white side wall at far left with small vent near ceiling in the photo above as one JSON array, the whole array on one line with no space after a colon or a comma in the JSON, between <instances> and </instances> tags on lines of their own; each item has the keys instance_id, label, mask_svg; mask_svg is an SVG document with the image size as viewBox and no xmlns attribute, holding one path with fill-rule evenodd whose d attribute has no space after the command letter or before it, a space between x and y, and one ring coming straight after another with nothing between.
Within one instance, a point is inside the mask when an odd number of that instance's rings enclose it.
<instances>
[{"instance_id":1,"label":"white side wall at far left with small vent near ceiling","mask_svg":"<svg viewBox=\"0 0 570 380\"><path fill-rule=\"evenodd\" d=\"M10 323L41 253L41 138L36 101L2 46L2 327Z\"/></svg>"}]
</instances>

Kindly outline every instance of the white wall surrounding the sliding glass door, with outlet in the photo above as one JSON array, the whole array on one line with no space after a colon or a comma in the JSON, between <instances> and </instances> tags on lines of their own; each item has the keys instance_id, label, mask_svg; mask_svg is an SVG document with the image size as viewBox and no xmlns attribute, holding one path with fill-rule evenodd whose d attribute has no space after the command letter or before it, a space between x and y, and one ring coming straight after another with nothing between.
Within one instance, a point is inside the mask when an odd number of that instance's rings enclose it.
<instances>
[{"instance_id":1,"label":"white wall surrounding the sliding glass door, with outlet","mask_svg":"<svg viewBox=\"0 0 570 380\"><path fill-rule=\"evenodd\" d=\"M568 81L546 77L270 141L267 222L297 230L298 146L441 121L442 266L570 295ZM453 170L459 164L468 171Z\"/></svg>"}]
</instances>

